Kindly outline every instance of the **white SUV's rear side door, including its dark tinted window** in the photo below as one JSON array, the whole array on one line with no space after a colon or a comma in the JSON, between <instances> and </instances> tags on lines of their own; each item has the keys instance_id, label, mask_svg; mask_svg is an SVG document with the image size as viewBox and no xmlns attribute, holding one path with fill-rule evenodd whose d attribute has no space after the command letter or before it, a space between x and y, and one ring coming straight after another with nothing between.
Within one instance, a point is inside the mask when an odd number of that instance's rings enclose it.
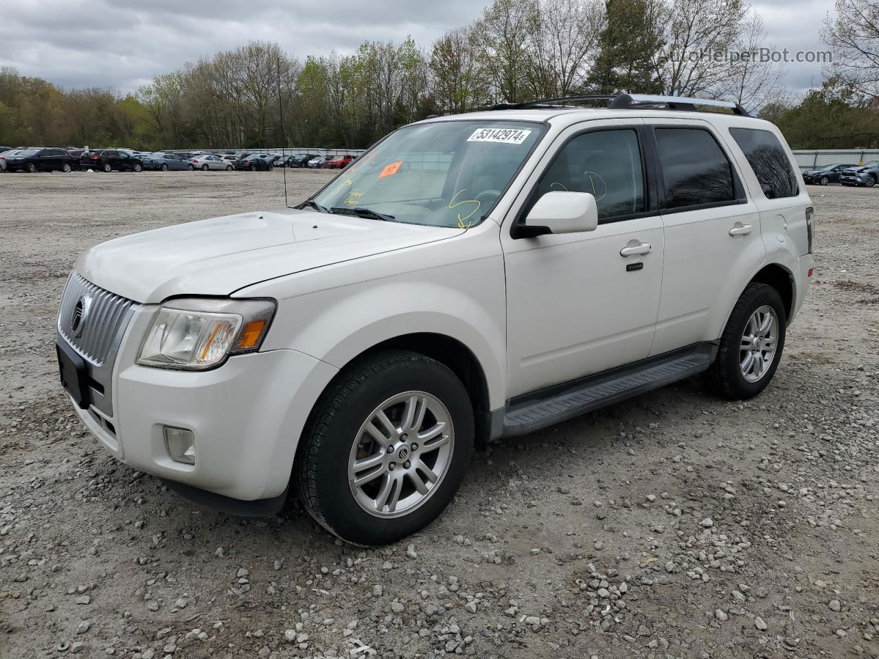
<instances>
[{"instance_id":1,"label":"white SUV's rear side door, including its dark tinted window","mask_svg":"<svg viewBox=\"0 0 879 659\"><path fill-rule=\"evenodd\" d=\"M715 127L646 119L656 154L665 267L656 338L661 354L720 336L742 288L766 257L759 209Z\"/></svg>"}]
</instances>

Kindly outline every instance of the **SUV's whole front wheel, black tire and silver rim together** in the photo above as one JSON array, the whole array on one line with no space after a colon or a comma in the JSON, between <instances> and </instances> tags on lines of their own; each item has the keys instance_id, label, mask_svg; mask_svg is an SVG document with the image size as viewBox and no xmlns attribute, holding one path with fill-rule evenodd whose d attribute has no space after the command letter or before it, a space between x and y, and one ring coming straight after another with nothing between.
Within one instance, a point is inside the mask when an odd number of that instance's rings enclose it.
<instances>
[{"instance_id":1,"label":"SUV's whole front wheel, black tire and silver rim together","mask_svg":"<svg viewBox=\"0 0 879 659\"><path fill-rule=\"evenodd\" d=\"M400 540L451 502L473 438L469 395L447 366L409 351L360 360L309 416L296 457L301 502L342 540Z\"/></svg>"}]
</instances>

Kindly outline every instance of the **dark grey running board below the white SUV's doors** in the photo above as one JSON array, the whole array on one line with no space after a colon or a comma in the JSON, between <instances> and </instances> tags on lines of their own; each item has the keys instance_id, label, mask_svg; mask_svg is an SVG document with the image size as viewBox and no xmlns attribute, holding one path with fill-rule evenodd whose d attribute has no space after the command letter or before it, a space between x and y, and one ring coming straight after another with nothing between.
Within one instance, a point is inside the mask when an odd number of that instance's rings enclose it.
<instances>
[{"instance_id":1,"label":"dark grey running board below the white SUV's doors","mask_svg":"<svg viewBox=\"0 0 879 659\"><path fill-rule=\"evenodd\" d=\"M524 435L567 419L684 380L708 370L717 346L702 343L596 373L509 402L502 437Z\"/></svg>"}]
</instances>

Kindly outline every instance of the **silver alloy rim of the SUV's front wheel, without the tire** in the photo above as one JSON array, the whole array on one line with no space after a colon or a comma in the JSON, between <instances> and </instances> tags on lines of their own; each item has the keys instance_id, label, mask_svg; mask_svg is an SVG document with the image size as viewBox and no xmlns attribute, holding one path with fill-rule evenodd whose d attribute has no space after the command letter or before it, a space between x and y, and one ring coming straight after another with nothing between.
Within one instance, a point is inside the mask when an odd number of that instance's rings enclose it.
<instances>
[{"instance_id":1,"label":"silver alloy rim of the SUV's front wheel, without the tire","mask_svg":"<svg viewBox=\"0 0 879 659\"><path fill-rule=\"evenodd\" d=\"M424 391L391 396L367 416L348 457L354 500L377 518L425 503L452 463L454 427L446 406Z\"/></svg>"}]
</instances>

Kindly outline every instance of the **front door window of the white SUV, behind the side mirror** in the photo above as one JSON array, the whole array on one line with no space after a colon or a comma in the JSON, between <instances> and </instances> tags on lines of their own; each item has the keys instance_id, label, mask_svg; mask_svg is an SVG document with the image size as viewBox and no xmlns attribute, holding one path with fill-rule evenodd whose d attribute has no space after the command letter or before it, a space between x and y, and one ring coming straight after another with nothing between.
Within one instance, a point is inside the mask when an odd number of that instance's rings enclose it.
<instances>
[{"instance_id":1,"label":"front door window of the white SUV, behind the side mirror","mask_svg":"<svg viewBox=\"0 0 879 659\"><path fill-rule=\"evenodd\" d=\"M598 130L573 138L541 177L534 199L553 191L592 192L599 221L641 213L644 177L636 132Z\"/></svg>"}]
</instances>

